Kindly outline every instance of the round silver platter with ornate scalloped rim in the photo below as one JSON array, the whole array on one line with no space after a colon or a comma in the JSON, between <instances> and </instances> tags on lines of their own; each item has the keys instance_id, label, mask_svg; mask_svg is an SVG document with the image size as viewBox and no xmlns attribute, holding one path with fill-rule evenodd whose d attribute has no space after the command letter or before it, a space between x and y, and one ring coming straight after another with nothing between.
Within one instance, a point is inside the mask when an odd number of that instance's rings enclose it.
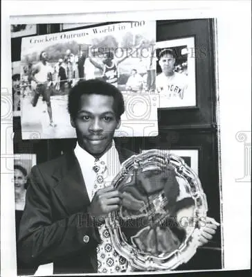
<instances>
[{"instance_id":1,"label":"round silver platter with ornate scalloped rim","mask_svg":"<svg viewBox=\"0 0 252 277\"><path fill-rule=\"evenodd\" d=\"M194 256L208 206L199 177L183 159L148 150L125 161L112 184L123 203L106 224L132 268L170 270Z\"/></svg>"}]
</instances>

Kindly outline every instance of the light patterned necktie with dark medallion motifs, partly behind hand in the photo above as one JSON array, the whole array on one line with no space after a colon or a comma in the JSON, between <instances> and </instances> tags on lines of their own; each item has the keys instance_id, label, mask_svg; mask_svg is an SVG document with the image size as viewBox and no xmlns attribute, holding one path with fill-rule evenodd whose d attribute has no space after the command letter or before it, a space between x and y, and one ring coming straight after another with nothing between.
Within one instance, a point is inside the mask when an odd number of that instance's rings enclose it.
<instances>
[{"instance_id":1,"label":"light patterned necktie with dark medallion motifs, partly behind hand","mask_svg":"<svg viewBox=\"0 0 252 277\"><path fill-rule=\"evenodd\" d=\"M107 166L104 161L96 159L93 171L96 172L96 181L93 186L92 197L97 190L110 185L110 182L106 182ZM126 271L127 260L115 251L106 224L99 226L98 230L102 240L97 247L98 273L111 274Z\"/></svg>"}]
</instances>

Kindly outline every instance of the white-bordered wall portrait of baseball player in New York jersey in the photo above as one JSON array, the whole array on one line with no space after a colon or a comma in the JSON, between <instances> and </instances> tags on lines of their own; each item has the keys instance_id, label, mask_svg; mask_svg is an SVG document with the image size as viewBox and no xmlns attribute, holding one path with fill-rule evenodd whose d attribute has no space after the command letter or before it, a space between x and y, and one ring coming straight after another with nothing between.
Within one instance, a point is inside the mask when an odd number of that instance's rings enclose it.
<instances>
[{"instance_id":1,"label":"white-bordered wall portrait of baseball player in New York jersey","mask_svg":"<svg viewBox=\"0 0 252 277\"><path fill-rule=\"evenodd\" d=\"M161 108L195 107L195 37L156 42L156 92Z\"/></svg>"}]
</instances>

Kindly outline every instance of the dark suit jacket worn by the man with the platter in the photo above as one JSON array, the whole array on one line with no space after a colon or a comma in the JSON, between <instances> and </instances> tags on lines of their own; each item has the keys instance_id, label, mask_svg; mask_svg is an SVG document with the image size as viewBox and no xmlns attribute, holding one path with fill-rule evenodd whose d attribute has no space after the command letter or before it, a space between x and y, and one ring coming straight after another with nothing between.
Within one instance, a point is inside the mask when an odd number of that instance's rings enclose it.
<instances>
[{"instance_id":1,"label":"dark suit jacket worn by the man with the platter","mask_svg":"<svg viewBox=\"0 0 252 277\"><path fill-rule=\"evenodd\" d=\"M133 152L117 148L120 163ZM100 235L74 152L34 166L28 179L17 253L30 265L54 263L54 274L97 272Z\"/></svg>"}]
</instances>

